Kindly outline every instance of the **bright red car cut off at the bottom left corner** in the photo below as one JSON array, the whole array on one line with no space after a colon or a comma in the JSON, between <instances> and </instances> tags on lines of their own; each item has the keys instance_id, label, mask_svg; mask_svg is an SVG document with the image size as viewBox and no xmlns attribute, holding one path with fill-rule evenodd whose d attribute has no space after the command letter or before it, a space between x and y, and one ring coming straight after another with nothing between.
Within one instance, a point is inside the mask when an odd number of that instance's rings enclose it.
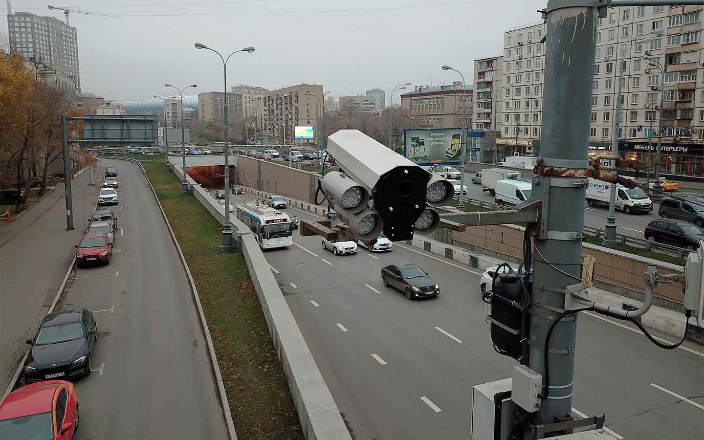
<instances>
[{"instance_id":1,"label":"bright red car cut off at the bottom left corner","mask_svg":"<svg viewBox=\"0 0 704 440\"><path fill-rule=\"evenodd\" d=\"M76 429L78 398L65 380L25 385L0 406L3 439L71 440Z\"/></svg>"}]
</instances>

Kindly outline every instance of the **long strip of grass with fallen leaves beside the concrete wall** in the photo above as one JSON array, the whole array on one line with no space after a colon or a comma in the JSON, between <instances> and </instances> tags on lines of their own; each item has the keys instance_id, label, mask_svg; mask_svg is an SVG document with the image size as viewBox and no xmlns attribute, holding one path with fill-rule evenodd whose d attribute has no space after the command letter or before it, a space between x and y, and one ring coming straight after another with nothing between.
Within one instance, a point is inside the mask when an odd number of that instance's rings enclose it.
<instances>
[{"instance_id":1,"label":"long strip of grass with fallen leaves beside the concrete wall","mask_svg":"<svg viewBox=\"0 0 704 440\"><path fill-rule=\"evenodd\" d=\"M237 438L303 439L244 257L220 251L222 225L163 163L144 167L196 283Z\"/></svg>"}]
</instances>

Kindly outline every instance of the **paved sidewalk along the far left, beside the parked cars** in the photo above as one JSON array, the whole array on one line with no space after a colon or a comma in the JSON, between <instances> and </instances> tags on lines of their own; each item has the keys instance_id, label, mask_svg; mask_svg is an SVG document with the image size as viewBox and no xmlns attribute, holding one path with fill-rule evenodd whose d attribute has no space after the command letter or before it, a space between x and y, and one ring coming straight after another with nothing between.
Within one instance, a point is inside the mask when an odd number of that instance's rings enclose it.
<instances>
[{"instance_id":1,"label":"paved sidewalk along the far left, beside the parked cars","mask_svg":"<svg viewBox=\"0 0 704 440\"><path fill-rule=\"evenodd\" d=\"M65 186L46 194L11 223L0 222L0 387L5 389L37 332L75 255L100 185L88 172L71 182L73 225L66 230ZM100 182L99 169L94 180ZM84 215L85 205L85 215Z\"/></svg>"}]
</instances>

